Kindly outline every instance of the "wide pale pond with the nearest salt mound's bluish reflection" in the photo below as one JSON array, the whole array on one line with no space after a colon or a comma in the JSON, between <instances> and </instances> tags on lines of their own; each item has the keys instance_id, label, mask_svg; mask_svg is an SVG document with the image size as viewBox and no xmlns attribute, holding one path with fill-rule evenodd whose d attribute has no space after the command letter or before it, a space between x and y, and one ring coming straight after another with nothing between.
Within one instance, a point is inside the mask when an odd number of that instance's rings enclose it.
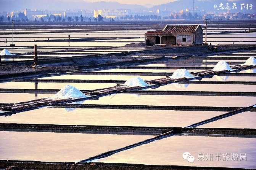
<instances>
[{"instance_id":1,"label":"wide pale pond with the nearest salt mound's bluish reflection","mask_svg":"<svg viewBox=\"0 0 256 170\"><path fill-rule=\"evenodd\" d=\"M11 116L0 116L0 122L61 125L186 127L224 113L225 112L217 111L44 107L12 114Z\"/></svg>"}]
</instances>

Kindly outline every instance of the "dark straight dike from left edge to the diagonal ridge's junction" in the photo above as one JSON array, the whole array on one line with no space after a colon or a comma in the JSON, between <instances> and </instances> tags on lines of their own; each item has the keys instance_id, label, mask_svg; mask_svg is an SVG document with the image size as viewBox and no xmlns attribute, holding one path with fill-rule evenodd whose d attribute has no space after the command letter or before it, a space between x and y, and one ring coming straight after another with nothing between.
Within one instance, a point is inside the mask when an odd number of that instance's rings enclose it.
<instances>
[{"instance_id":1,"label":"dark straight dike from left edge to the diagonal ridge's junction","mask_svg":"<svg viewBox=\"0 0 256 170\"><path fill-rule=\"evenodd\" d=\"M2 131L50 132L50 133L93 133L93 134L129 134L160 135L170 130L181 133L181 127L146 127L146 126L98 126L98 125L57 125L57 124L16 124L0 123Z\"/></svg>"}]
</instances>

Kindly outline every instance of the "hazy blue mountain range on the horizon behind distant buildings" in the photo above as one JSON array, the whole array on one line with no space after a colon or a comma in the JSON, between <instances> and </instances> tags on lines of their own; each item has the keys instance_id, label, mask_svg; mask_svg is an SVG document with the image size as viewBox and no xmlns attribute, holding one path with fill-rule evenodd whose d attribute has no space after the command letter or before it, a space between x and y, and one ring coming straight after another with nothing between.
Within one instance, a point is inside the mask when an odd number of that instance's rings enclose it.
<instances>
[{"instance_id":1,"label":"hazy blue mountain range on the horizon behind distant buildings","mask_svg":"<svg viewBox=\"0 0 256 170\"><path fill-rule=\"evenodd\" d=\"M226 5L229 3L230 8L232 9L233 3L236 3L237 9L229 10L231 12L243 12L243 13L256 13L256 0L238 0L238 1L228 1L228 0L195 0L195 8L198 10L205 10L206 12L210 11L227 11L227 10L217 10L220 4ZM243 8L241 10L242 3L245 3L245 7L247 3L252 4L252 10L250 7L248 10ZM157 6L152 6L151 4L147 4L145 6L142 5L128 5L121 4L118 2L85 2L84 0L0 0L0 12L3 11L24 11L26 8L35 10L35 9L46 9L46 10L74 10L74 9L82 9L82 10L117 10L117 9L129 9L132 12L139 12L142 10L172 10L172 11L180 11L193 8L193 0L178 0L175 2L165 3ZM214 5L217 8L214 8Z\"/></svg>"}]
</instances>

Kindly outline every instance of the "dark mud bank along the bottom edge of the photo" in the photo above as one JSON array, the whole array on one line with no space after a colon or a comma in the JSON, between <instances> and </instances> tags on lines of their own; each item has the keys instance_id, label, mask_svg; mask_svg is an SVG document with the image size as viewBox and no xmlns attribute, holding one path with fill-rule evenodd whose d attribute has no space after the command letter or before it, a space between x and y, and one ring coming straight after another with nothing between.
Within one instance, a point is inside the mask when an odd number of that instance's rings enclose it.
<instances>
[{"instance_id":1,"label":"dark mud bank along the bottom edge of the photo","mask_svg":"<svg viewBox=\"0 0 256 170\"><path fill-rule=\"evenodd\" d=\"M37 162L19 160L0 160L0 168L12 170L54 169L54 170L222 170L221 167L189 167L177 165L142 165L113 163L81 163L81 162ZM11 168L13 167L13 168ZM243 170L243 168L225 168L227 170Z\"/></svg>"}]
</instances>

